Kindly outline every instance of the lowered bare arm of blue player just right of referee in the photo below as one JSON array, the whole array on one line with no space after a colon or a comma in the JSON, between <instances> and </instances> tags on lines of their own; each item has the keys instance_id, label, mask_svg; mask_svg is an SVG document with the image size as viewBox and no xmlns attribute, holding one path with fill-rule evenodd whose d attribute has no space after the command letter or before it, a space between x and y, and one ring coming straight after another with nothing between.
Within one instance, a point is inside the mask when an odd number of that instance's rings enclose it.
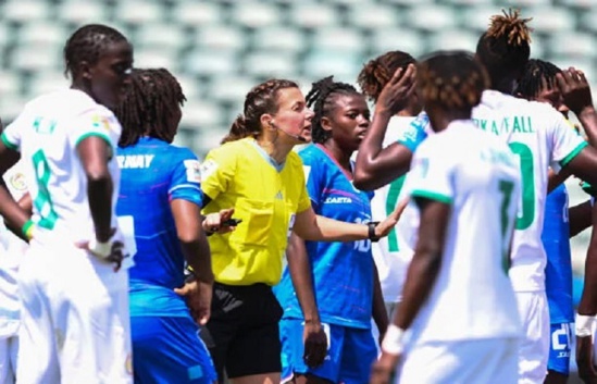
<instances>
[{"instance_id":1,"label":"lowered bare arm of blue player just right of referee","mask_svg":"<svg viewBox=\"0 0 597 384\"><path fill-rule=\"evenodd\" d=\"M286 249L288 259L288 269L293 286L297 293L297 299L300 304L304 317L304 355L303 360L311 368L323 363L327 355L327 338L321 326L320 312L315 302L313 292L313 276L311 262L307 255L304 240L296 234L290 236L288 248Z\"/></svg>"}]
</instances>

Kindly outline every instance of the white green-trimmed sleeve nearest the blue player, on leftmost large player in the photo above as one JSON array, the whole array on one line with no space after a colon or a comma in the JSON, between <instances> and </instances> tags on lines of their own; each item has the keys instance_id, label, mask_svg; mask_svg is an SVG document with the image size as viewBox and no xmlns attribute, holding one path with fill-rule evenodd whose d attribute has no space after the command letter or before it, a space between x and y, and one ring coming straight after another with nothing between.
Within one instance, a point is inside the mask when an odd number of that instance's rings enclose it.
<instances>
[{"instance_id":1,"label":"white green-trimmed sleeve nearest the blue player, on leftmost large player","mask_svg":"<svg viewBox=\"0 0 597 384\"><path fill-rule=\"evenodd\" d=\"M75 148L86 138L95 136L104 139L114 150L121 131L121 125L113 114L102 110L90 110L73 120L67 135Z\"/></svg>"}]
</instances>

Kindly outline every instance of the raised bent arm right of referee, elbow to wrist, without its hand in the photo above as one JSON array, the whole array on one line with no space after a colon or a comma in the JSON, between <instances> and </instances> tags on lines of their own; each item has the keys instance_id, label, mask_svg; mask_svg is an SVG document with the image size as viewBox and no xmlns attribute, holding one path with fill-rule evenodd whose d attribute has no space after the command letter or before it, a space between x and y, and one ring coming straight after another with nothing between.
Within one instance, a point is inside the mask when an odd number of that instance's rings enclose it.
<instances>
[{"instance_id":1,"label":"raised bent arm right of referee, elbow to wrist, without its hand","mask_svg":"<svg viewBox=\"0 0 597 384\"><path fill-rule=\"evenodd\" d=\"M380 188L408 172L412 152L405 146L383 148L391 114L375 111L373 121L359 146L353 184L362 190Z\"/></svg>"}]
</instances>

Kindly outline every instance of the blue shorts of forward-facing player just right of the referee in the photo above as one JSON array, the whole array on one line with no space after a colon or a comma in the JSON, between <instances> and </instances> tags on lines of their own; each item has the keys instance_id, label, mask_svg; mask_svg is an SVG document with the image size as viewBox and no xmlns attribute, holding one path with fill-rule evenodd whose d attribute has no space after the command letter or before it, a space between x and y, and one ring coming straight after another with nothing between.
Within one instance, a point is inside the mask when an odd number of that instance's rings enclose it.
<instances>
[{"instance_id":1,"label":"blue shorts of forward-facing player just right of the referee","mask_svg":"<svg viewBox=\"0 0 597 384\"><path fill-rule=\"evenodd\" d=\"M327 356L322 366L311 369L302 360L303 321L279 321L282 340L282 382L294 374L312 374L334 383L369 383L371 366L377 358L371 329L322 324L327 335Z\"/></svg>"}]
</instances>

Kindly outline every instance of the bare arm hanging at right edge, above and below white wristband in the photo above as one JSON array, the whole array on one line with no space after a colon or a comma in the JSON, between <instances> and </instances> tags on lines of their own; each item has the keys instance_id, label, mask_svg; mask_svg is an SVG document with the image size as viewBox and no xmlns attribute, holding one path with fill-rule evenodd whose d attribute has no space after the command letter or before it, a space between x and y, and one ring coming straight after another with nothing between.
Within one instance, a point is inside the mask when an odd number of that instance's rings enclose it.
<instances>
[{"instance_id":1,"label":"bare arm hanging at right edge, above and below white wristband","mask_svg":"<svg viewBox=\"0 0 597 384\"><path fill-rule=\"evenodd\" d=\"M597 206L593 207L593 232L585 261L585 280L579 314L595 315L597 313ZM597 383L597 370L593 364L592 336L576 336L576 363L579 374L585 383Z\"/></svg>"}]
</instances>

